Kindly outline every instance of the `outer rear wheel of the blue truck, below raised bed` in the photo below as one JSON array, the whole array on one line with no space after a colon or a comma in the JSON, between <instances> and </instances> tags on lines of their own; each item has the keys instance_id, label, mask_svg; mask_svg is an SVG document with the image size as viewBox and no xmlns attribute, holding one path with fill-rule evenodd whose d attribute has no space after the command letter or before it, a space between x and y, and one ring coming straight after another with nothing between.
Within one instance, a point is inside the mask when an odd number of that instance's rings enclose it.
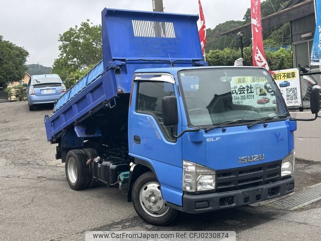
<instances>
[{"instance_id":1,"label":"outer rear wheel of the blue truck, below raised bed","mask_svg":"<svg viewBox=\"0 0 321 241\"><path fill-rule=\"evenodd\" d=\"M73 190L81 190L88 185L86 161L82 150L71 150L67 153L65 171L68 184Z\"/></svg>"}]
</instances>

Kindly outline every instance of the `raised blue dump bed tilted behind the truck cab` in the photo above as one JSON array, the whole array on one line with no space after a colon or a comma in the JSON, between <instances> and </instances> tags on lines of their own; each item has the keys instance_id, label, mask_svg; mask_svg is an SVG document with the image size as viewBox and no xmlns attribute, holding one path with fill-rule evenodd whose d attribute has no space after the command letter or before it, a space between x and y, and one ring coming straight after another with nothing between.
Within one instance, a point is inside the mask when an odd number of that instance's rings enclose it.
<instances>
[{"instance_id":1,"label":"raised blue dump bed tilted behind the truck cab","mask_svg":"<svg viewBox=\"0 0 321 241\"><path fill-rule=\"evenodd\" d=\"M87 137L79 131L82 122L102 108L117 108L117 97L130 93L137 69L203 65L197 20L196 15L104 9L103 60L45 116L47 140L56 143L68 128Z\"/></svg>"}]
</instances>

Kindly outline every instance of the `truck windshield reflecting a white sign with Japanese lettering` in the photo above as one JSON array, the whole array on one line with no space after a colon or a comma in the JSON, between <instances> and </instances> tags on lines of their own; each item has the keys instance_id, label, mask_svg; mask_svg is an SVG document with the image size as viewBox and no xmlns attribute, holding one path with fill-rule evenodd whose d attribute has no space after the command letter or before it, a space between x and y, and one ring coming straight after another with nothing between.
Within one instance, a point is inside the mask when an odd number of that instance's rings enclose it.
<instances>
[{"instance_id":1,"label":"truck windshield reflecting a white sign with Japanese lettering","mask_svg":"<svg viewBox=\"0 0 321 241\"><path fill-rule=\"evenodd\" d=\"M289 116L277 85L264 69L199 68L180 71L179 79L192 126Z\"/></svg>"}]
</instances>

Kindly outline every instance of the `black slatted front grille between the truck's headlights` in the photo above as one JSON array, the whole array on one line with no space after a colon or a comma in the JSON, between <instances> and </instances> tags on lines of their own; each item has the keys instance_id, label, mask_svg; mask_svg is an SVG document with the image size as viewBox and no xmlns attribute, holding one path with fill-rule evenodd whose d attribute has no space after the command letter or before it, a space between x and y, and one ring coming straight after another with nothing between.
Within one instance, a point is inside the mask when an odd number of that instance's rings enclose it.
<instances>
[{"instance_id":1,"label":"black slatted front grille between the truck's headlights","mask_svg":"<svg viewBox=\"0 0 321 241\"><path fill-rule=\"evenodd\" d=\"M264 185L281 177L281 161L216 171L216 190L226 192Z\"/></svg>"}]
</instances>

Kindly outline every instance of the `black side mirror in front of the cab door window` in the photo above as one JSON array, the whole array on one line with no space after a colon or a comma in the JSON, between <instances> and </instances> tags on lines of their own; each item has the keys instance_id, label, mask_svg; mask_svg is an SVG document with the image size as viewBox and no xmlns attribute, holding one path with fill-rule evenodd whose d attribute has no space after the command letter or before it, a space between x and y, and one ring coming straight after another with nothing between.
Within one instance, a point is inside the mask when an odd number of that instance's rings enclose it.
<instances>
[{"instance_id":1,"label":"black side mirror in front of the cab door window","mask_svg":"<svg viewBox=\"0 0 321 241\"><path fill-rule=\"evenodd\" d=\"M175 96L165 96L162 99L162 115L164 126L176 126L179 124L177 100Z\"/></svg>"}]
</instances>

